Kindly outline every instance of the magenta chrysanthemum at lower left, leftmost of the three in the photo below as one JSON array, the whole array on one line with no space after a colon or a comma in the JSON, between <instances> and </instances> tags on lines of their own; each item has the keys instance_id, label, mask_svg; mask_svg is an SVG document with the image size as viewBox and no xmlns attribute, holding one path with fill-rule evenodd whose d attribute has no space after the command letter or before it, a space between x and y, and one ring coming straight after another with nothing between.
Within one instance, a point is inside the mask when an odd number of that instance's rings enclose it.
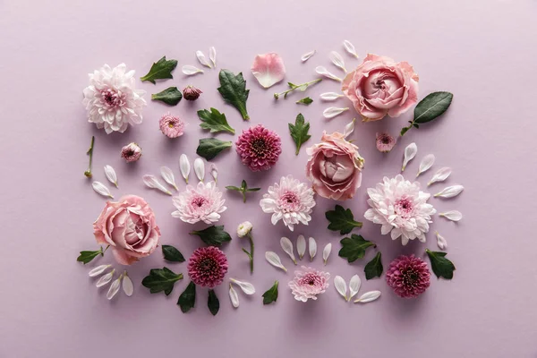
<instances>
[{"instance_id":1,"label":"magenta chrysanthemum at lower left, leftmost of the three","mask_svg":"<svg viewBox=\"0 0 537 358\"><path fill-rule=\"evenodd\" d=\"M213 288L224 281L226 254L214 246L200 247L188 260L188 277L198 286Z\"/></svg>"}]
</instances>

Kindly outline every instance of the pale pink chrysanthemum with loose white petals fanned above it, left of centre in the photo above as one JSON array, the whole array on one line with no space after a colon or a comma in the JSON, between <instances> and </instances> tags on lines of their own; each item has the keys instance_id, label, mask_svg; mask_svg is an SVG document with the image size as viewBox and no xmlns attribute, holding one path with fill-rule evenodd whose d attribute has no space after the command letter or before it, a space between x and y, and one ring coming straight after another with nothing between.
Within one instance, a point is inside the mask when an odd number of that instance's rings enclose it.
<instances>
[{"instance_id":1,"label":"pale pink chrysanthemum with loose white petals fanned above it, left of centre","mask_svg":"<svg viewBox=\"0 0 537 358\"><path fill-rule=\"evenodd\" d=\"M186 191L172 198L176 211L172 217L178 217L185 223L195 224L203 221L206 224L216 223L220 214L226 211L220 192L214 182L198 183L197 187L188 185Z\"/></svg>"}]
</instances>

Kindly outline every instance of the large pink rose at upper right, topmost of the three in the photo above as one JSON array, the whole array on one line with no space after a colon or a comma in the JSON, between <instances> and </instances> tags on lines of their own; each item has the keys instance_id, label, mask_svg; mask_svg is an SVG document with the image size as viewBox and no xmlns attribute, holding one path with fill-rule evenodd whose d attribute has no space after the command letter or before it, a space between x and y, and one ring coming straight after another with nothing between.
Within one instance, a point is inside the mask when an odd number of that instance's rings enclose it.
<instances>
[{"instance_id":1,"label":"large pink rose at upper right, topmost of the three","mask_svg":"<svg viewBox=\"0 0 537 358\"><path fill-rule=\"evenodd\" d=\"M420 78L407 62L368 54L346 75L341 90L365 122L396 117L418 101Z\"/></svg>"}]
</instances>

